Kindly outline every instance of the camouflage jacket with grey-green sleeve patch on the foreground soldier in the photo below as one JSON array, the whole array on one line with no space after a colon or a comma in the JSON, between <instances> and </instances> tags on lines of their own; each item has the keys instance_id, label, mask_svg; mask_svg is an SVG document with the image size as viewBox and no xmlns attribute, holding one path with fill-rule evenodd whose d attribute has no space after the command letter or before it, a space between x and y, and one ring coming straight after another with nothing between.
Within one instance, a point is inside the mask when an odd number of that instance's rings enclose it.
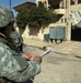
<instances>
[{"instance_id":1,"label":"camouflage jacket with grey-green sleeve patch on the foreground soldier","mask_svg":"<svg viewBox=\"0 0 81 83\"><path fill-rule=\"evenodd\" d=\"M26 61L14 44L0 33L0 76L13 82L24 82L40 72L37 60Z\"/></svg>"}]
</instances>

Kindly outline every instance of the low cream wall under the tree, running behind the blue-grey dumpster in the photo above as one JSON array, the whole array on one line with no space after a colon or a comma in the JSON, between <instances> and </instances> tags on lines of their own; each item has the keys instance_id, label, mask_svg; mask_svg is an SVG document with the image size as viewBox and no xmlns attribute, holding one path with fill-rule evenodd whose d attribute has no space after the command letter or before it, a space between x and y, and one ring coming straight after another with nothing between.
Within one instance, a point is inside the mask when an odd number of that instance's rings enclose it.
<instances>
[{"instance_id":1,"label":"low cream wall under the tree, running behind the blue-grey dumpster","mask_svg":"<svg viewBox=\"0 0 81 83\"><path fill-rule=\"evenodd\" d=\"M25 30L16 28L16 30L22 33L23 39L35 39L42 41L49 41L49 28L50 27L66 27L66 23L50 23L48 27L38 28L38 27L31 27L26 25ZM66 27L67 33L67 27ZM67 34L66 34L67 38Z\"/></svg>"}]
</instances>

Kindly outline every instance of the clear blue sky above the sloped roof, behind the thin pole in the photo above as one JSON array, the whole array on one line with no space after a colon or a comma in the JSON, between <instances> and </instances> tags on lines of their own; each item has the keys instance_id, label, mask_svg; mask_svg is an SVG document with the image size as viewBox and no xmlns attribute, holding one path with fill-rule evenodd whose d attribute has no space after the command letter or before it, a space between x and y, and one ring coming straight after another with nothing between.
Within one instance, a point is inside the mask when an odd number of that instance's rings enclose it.
<instances>
[{"instance_id":1,"label":"clear blue sky above the sloped roof, behind the thin pole","mask_svg":"<svg viewBox=\"0 0 81 83\"><path fill-rule=\"evenodd\" d=\"M23 3L23 2L26 2L26 1L32 1L32 2L35 2L35 0L11 0L11 8L20 4L20 3ZM10 0L0 0L0 6L3 6L8 9L10 9ZM16 11L14 9L11 9L14 13L14 15L16 15Z\"/></svg>"}]
</instances>

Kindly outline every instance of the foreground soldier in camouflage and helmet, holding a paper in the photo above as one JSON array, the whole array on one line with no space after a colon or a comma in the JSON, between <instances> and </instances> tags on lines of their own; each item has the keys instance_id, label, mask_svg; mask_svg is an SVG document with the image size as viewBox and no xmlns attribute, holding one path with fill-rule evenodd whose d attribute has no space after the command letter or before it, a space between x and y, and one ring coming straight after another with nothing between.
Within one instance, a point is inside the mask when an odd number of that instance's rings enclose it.
<instances>
[{"instance_id":1,"label":"foreground soldier in camouflage and helmet, holding a paper","mask_svg":"<svg viewBox=\"0 0 81 83\"><path fill-rule=\"evenodd\" d=\"M0 6L0 77L5 83L24 83L40 72L42 58L16 51L10 39L13 23L11 11Z\"/></svg>"}]
</instances>

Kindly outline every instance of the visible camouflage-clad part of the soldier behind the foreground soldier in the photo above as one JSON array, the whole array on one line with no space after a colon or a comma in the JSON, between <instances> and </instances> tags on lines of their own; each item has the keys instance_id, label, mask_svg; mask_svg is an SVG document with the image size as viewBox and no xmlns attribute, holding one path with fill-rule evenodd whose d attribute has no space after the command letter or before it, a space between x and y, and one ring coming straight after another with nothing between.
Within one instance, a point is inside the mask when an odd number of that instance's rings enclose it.
<instances>
[{"instance_id":1,"label":"visible camouflage-clad part of the soldier behind the foreground soldier","mask_svg":"<svg viewBox=\"0 0 81 83\"><path fill-rule=\"evenodd\" d=\"M18 52L23 52L23 38L14 28L11 30L10 38L14 41Z\"/></svg>"}]
</instances>

